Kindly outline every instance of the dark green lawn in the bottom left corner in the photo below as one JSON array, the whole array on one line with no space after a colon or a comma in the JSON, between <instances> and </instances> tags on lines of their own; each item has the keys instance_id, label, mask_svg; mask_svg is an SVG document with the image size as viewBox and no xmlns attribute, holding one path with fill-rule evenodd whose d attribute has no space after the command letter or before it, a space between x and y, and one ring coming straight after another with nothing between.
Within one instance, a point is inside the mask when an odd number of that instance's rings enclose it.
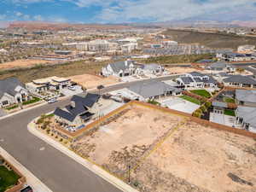
<instances>
[{"instance_id":1,"label":"dark green lawn in the bottom left corner","mask_svg":"<svg viewBox=\"0 0 256 192\"><path fill-rule=\"evenodd\" d=\"M19 178L14 171L9 171L5 166L0 166L0 192L4 192L15 185Z\"/></svg>"}]
</instances>

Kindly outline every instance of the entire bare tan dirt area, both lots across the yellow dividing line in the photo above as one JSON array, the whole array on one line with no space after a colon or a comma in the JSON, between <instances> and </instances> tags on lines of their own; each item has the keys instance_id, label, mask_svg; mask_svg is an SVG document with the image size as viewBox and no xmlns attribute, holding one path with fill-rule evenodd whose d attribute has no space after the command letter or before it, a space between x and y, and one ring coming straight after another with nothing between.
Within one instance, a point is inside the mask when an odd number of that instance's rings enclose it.
<instances>
[{"instance_id":1,"label":"entire bare tan dirt area, both lots across the yellow dividing line","mask_svg":"<svg viewBox=\"0 0 256 192\"><path fill-rule=\"evenodd\" d=\"M147 103L127 103L72 148L138 191L256 191L255 138Z\"/></svg>"}]
</instances>

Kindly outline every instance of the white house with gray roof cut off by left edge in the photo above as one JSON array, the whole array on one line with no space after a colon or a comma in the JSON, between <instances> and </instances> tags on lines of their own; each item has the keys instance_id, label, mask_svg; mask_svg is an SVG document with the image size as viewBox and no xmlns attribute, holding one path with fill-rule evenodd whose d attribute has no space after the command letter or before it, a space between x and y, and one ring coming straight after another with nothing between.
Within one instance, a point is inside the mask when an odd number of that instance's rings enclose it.
<instances>
[{"instance_id":1,"label":"white house with gray roof cut off by left edge","mask_svg":"<svg viewBox=\"0 0 256 192\"><path fill-rule=\"evenodd\" d=\"M0 108L25 102L28 99L28 90L19 79L8 78L0 80Z\"/></svg>"}]
</instances>

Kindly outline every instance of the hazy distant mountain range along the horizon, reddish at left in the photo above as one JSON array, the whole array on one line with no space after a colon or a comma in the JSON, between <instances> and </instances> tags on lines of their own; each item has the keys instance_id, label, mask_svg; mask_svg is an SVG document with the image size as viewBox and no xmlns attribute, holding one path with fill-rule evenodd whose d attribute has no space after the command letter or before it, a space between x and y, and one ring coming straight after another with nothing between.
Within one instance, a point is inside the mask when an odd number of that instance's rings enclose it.
<instances>
[{"instance_id":1,"label":"hazy distant mountain range along the horizon, reddish at left","mask_svg":"<svg viewBox=\"0 0 256 192\"><path fill-rule=\"evenodd\" d=\"M165 22L151 23L120 23L120 24L72 24L72 23L57 23L48 21L0 21L0 27L22 27L28 30L61 30L67 28L82 29L82 28L99 28L99 29L116 29L129 28L131 26L140 27L256 27L256 20L233 20L233 21L216 21L216 20L176 20Z\"/></svg>"}]
</instances>

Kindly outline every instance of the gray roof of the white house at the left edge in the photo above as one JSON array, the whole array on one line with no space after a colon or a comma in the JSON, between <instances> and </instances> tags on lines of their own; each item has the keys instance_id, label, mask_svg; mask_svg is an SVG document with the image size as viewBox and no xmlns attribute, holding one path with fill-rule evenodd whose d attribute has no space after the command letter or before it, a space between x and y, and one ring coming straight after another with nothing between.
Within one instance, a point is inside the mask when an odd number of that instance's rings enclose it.
<instances>
[{"instance_id":1,"label":"gray roof of the white house at the left edge","mask_svg":"<svg viewBox=\"0 0 256 192\"><path fill-rule=\"evenodd\" d=\"M0 80L0 97L2 97L4 93L8 93L11 96L15 96L17 93L15 91L15 88L18 85L25 89L25 84L22 84L19 79L8 78Z\"/></svg>"}]
</instances>

